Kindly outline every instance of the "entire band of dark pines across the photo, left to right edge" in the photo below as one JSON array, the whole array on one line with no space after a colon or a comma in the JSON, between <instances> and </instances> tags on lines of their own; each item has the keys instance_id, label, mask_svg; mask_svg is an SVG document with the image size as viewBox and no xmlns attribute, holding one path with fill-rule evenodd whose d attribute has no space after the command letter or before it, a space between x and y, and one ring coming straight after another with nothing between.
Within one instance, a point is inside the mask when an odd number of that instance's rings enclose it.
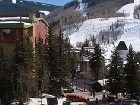
<instances>
[{"instance_id":1,"label":"entire band of dark pines across the photo, left to right edge","mask_svg":"<svg viewBox=\"0 0 140 105\"><path fill-rule=\"evenodd\" d=\"M4 43L0 37L0 102L9 105L14 99L23 105L30 97L41 97L48 93L57 97L63 95L62 87L69 86L67 78L74 80L78 59L68 38L64 38L62 29L56 34L52 24L48 27L46 41L39 37L32 43L29 35L18 37L13 51L12 63L7 61L4 54ZM90 56L92 80L103 79L106 72L105 60L99 44L94 43L94 52L84 51L88 47L88 40L82 45L80 57ZM130 45L124 64L120 53L114 50L107 69L107 86L111 94L126 94L128 98L136 99L140 96L139 61ZM10 65L10 68L7 67Z\"/></svg>"}]
</instances>

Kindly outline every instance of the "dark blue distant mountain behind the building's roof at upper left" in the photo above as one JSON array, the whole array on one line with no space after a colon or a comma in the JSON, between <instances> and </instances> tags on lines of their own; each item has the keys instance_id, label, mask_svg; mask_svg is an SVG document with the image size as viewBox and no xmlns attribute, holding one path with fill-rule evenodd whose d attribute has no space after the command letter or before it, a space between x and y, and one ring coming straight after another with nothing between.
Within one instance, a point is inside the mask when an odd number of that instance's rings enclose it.
<instances>
[{"instance_id":1,"label":"dark blue distant mountain behind the building's roof at upper left","mask_svg":"<svg viewBox=\"0 0 140 105\"><path fill-rule=\"evenodd\" d=\"M26 0L1 0L0 16L28 16L31 12L52 12L59 7L60 6Z\"/></svg>"}]
</instances>

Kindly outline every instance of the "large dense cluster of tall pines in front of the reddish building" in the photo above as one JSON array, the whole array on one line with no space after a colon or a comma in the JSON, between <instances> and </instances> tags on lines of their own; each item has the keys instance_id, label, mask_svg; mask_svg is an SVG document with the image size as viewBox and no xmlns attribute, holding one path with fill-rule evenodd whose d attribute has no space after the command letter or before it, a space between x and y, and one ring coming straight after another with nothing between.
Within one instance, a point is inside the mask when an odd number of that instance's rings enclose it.
<instances>
[{"instance_id":1,"label":"large dense cluster of tall pines in front of the reddish building","mask_svg":"<svg viewBox=\"0 0 140 105\"><path fill-rule=\"evenodd\" d=\"M6 66L9 61L6 61L1 41L0 101L2 105L9 105L15 99L22 105L29 97L40 97L42 93L61 96L63 85L69 85L66 78L74 76L77 59L74 54L70 54L72 46L69 39L64 39L61 29L56 35L50 24L48 30L45 44L40 37L33 45L30 36L19 35L10 68Z\"/></svg>"}]
</instances>

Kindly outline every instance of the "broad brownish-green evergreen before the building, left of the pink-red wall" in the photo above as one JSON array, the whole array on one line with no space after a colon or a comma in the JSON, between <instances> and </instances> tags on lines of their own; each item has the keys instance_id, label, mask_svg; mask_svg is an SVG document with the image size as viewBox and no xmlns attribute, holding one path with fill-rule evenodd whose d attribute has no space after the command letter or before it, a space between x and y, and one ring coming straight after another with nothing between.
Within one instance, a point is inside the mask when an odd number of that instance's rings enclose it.
<instances>
[{"instance_id":1,"label":"broad brownish-green evergreen before the building, left of the pink-red wall","mask_svg":"<svg viewBox=\"0 0 140 105\"><path fill-rule=\"evenodd\" d=\"M13 85L15 98L23 104L35 88L33 73L33 44L29 36L19 36L13 57Z\"/></svg>"}]
</instances>

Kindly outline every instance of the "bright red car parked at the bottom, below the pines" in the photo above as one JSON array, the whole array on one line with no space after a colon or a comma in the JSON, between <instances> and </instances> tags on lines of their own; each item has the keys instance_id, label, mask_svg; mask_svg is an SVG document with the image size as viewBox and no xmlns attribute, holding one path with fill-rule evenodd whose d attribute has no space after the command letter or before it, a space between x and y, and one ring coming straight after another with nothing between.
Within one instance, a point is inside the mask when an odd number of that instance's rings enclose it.
<instances>
[{"instance_id":1,"label":"bright red car parked at the bottom, below the pines","mask_svg":"<svg viewBox=\"0 0 140 105\"><path fill-rule=\"evenodd\" d=\"M80 97L80 96L77 96L77 95L67 95L66 100L71 101L71 102L86 102L87 101L86 98Z\"/></svg>"}]
</instances>

